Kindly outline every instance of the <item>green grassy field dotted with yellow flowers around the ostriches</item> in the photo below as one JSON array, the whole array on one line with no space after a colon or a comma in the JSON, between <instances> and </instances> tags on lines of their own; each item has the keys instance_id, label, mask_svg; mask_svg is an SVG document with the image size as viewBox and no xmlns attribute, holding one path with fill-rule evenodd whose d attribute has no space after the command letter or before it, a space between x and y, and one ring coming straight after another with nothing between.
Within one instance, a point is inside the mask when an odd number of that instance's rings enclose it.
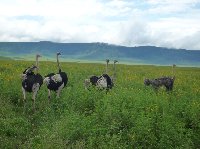
<instances>
[{"instance_id":1,"label":"green grassy field dotted with yellow flowers around the ostriches","mask_svg":"<svg viewBox=\"0 0 200 149\"><path fill-rule=\"evenodd\" d=\"M48 103L43 85L32 112L23 113L20 74L31 61L0 61L0 148L200 148L200 69L176 68L174 90L156 93L145 77L171 75L171 67L117 65L107 94L83 81L104 72L102 64L62 63L69 83ZM109 65L112 75L112 65ZM44 76L56 63L41 62Z\"/></svg>"}]
</instances>

